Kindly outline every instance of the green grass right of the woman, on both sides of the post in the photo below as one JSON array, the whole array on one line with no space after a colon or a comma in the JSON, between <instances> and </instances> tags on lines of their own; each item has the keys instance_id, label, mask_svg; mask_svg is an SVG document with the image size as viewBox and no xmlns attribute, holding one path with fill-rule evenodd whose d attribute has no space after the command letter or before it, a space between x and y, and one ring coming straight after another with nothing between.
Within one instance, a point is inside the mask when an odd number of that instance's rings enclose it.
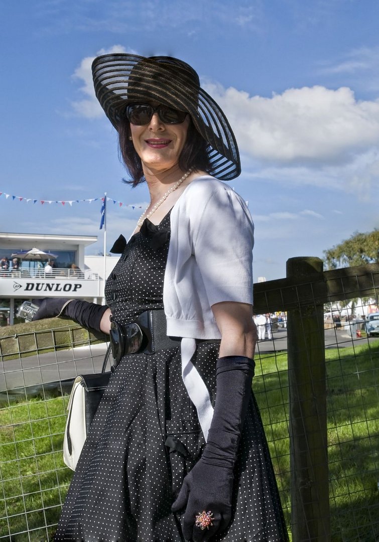
<instances>
[{"instance_id":1,"label":"green grass right of the woman, on both sides of the post","mask_svg":"<svg viewBox=\"0 0 379 542\"><path fill-rule=\"evenodd\" d=\"M332 542L379 540L379 341L327 349ZM287 354L256 358L253 390L290 524Z\"/></svg>"}]
</instances>

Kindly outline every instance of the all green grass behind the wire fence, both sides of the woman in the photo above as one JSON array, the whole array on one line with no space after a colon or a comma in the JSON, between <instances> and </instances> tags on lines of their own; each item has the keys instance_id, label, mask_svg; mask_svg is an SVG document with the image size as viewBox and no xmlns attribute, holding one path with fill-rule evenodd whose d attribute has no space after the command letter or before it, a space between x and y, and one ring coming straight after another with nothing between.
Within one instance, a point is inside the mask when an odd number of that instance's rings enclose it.
<instances>
[{"instance_id":1,"label":"all green grass behind the wire fence, both sides of the woman","mask_svg":"<svg viewBox=\"0 0 379 542\"><path fill-rule=\"evenodd\" d=\"M379 540L378 360L379 341L326 350L332 542ZM285 353L256 358L253 389L290 525ZM62 460L66 404L67 397L31 399L0 410L0 540L53 539L72 477Z\"/></svg>"}]
</instances>

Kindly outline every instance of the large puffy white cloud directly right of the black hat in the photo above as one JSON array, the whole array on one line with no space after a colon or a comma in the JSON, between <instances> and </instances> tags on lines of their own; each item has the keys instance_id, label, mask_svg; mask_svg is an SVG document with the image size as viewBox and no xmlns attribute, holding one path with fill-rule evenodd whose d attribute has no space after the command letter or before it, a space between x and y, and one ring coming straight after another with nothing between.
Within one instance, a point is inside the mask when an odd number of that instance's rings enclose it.
<instances>
[{"instance_id":1,"label":"large puffy white cloud directly right of the black hat","mask_svg":"<svg viewBox=\"0 0 379 542\"><path fill-rule=\"evenodd\" d=\"M291 88L272 98L207 83L226 112L240 150L265 162L346 163L379 143L379 100L347 87Z\"/></svg>"}]
</instances>

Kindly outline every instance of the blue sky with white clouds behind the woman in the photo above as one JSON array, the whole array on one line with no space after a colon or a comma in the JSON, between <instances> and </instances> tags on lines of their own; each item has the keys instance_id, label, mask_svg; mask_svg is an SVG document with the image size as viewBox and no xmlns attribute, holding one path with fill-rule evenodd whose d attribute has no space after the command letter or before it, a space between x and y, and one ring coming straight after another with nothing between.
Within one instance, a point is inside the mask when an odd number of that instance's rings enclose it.
<instances>
[{"instance_id":1,"label":"blue sky with white clouds behind the woman","mask_svg":"<svg viewBox=\"0 0 379 542\"><path fill-rule=\"evenodd\" d=\"M90 73L120 50L190 63L226 112L255 280L378 227L378 20L376 0L3 2L0 231L98 235L99 253L101 201L88 200L106 192L107 249L130 235L147 189L121 182Z\"/></svg>"}]
</instances>

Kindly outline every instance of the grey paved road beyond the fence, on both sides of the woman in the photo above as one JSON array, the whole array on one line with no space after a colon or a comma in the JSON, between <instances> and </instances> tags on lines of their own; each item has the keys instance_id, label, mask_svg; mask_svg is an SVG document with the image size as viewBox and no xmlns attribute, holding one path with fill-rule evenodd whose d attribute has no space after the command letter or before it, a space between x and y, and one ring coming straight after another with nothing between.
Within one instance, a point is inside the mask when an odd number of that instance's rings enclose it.
<instances>
[{"instance_id":1,"label":"grey paved road beyond the fence, on both sides of the woman","mask_svg":"<svg viewBox=\"0 0 379 542\"><path fill-rule=\"evenodd\" d=\"M364 345L375 340L351 337L344 329L338 332L335 329L325 330L325 348ZM286 350L287 330L279 329L273 332L272 340L259 341L256 353ZM19 391L22 391L24 386L34 388L41 384L48 389L48 383L72 379L81 373L100 372L105 352L106 344L97 344L0 363L0 394L5 390L21 388Z\"/></svg>"}]
</instances>

